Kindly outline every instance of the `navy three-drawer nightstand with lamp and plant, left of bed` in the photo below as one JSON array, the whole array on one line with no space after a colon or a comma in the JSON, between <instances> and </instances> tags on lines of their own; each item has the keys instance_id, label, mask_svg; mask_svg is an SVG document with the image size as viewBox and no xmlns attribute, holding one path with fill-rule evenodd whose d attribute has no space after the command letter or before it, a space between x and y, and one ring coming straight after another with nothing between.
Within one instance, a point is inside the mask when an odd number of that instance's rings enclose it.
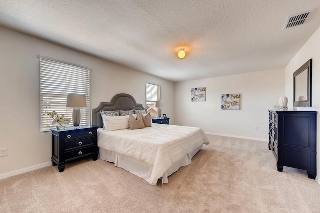
<instances>
[{"instance_id":1,"label":"navy three-drawer nightstand with lamp and plant, left of bed","mask_svg":"<svg viewBox=\"0 0 320 213\"><path fill-rule=\"evenodd\" d=\"M52 166L58 165L59 172L64 171L65 163L84 156L92 155L97 159L96 130L98 126L83 125L64 130L50 129L52 133Z\"/></svg>"}]
</instances>

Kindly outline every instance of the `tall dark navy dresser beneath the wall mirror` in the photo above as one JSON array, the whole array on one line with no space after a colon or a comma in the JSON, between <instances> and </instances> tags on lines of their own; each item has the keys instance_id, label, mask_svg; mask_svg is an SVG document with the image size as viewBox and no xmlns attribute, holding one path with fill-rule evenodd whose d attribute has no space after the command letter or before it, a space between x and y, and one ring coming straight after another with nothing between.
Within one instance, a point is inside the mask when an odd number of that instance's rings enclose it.
<instances>
[{"instance_id":1,"label":"tall dark navy dresser beneath the wall mirror","mask_svg":"<svg viewBox=\"0 0 320 213\"><path fill-rule=\"evenodd\" d=\"M316 176L316 111L269 111L269 150L282 172L283 166Z\"/></svg>"}]
</instances>

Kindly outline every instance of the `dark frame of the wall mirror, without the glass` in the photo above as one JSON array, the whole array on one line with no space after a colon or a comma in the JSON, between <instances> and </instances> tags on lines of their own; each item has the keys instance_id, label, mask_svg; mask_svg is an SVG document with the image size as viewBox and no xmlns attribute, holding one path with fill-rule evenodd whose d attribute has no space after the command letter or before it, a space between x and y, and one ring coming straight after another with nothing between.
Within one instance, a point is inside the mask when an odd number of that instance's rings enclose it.
<instances>
[{"instance_id":1,"label":"dark frame of the wall mirror, without the glass","mask_svg":"<svg viewBox=\"0 0 320 213\"><path fill-rule=\"evenodd\" d=\"M307 69L307 100L306 101L294 101L295 99L295 77ZM300 68L293 73L293 107L311 107L311 81L312 80L312 58L305 62Z\"/></svg>"}]
</instances>

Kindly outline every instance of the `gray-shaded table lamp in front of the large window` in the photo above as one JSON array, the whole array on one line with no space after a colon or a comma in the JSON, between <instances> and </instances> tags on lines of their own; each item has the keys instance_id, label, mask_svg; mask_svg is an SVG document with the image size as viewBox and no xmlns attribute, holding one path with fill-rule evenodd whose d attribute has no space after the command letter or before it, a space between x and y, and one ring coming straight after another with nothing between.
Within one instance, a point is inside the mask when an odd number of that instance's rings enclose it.
<instances>
[{"instance_id":1,"label":"gray-shaded table lamp in front of the large window","mask_svg":"<svg viewBox=\"0 0 320 213\"><path fill-rule=\"evenodd\" d=\"M72 122L77 127L80 124L80 109L86 107L85 95L69 94L66 98L66 107L73 107Z\"/></svg>"}]
</instances>

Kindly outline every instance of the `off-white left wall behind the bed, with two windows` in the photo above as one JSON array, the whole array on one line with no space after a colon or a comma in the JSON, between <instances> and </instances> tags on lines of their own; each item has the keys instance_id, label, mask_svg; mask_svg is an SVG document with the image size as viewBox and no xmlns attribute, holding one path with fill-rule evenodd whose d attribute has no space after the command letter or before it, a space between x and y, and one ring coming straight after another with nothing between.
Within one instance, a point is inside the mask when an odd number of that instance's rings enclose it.
<instances>
[{"instance_id":1,"label":"off-white left wall behind the bed, with two windows","mask_svg":"<svg viewBox=\"0 0 320 213\"><path fill-rule=\"evenodd\" d=\"M172 82L0 27L0 148L8 148L8 156L0 158L0 175L51 158L51 135L40 133L38 54L91 67L90 109L117 93L128 93L145 106L148 82L161 86L162 112L174 121Z\"/></svg>"}]
</instances>

